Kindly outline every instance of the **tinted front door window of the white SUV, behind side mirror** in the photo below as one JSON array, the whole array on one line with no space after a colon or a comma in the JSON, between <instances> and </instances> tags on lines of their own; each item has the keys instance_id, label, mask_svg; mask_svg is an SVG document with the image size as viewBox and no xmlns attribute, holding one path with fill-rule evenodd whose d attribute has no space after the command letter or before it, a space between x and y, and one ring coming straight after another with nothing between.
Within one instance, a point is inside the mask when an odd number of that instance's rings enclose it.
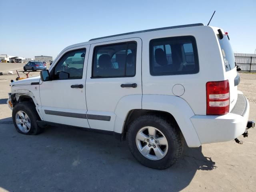
<instances>
[{"instance_id":1,"label":"tinted front door window of the white SUV, behind side mirror","mask_svg":"<svg viewBox=\"0 0 256 192\"><path fill-rule=\"evenodd\" d=\"M54 68L54 80L82 79L85 49L67 52Z\"/></svg>"}]
</instances>

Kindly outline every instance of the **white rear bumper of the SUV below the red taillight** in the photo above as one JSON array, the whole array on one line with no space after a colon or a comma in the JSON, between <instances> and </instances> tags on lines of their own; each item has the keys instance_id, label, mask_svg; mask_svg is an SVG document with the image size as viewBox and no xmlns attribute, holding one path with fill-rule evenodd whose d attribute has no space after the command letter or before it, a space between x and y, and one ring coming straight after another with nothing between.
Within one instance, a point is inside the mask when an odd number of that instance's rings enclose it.
<instances>
[{"instance_id":1,"label":"white rear bumper of the SUV below the red taillight","mask_svg":"<svg viewBox=\"0 0 256 192\"><path fill-rule=\"evenodd\" d=\"M244 97L244 102L238 103L243 111L223 116L195 115L190 118L198 134L201 144L230 141L242 135L246 130L250 106Z\"/></svg>"}]
</instances>

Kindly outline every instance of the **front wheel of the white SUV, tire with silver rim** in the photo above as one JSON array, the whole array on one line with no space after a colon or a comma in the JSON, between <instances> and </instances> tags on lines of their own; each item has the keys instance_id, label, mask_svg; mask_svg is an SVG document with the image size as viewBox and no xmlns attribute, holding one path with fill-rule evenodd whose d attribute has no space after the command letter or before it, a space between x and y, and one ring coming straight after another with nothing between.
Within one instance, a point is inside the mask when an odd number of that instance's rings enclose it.
<instances>
[{"instance_id":1,"label":"front wheel of the white SUV, tire with silver rim","mask_svg":"<svg viewBox=\"0 0 256 192\"><path fill-rule=\"evenodd\" d=\"M36 123L40 120L32 102L20 102L12 110L12 121L16 130L25 135L37 135L43 130Z\"/></svg>"}]
</instances>

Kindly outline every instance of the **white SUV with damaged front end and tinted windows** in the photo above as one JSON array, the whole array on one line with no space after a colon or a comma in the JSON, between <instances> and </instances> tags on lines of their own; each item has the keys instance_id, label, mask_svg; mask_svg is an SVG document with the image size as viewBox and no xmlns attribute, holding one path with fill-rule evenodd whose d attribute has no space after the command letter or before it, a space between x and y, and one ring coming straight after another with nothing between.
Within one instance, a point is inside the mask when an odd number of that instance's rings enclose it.
<instances>
[{"instance_id":1,"label":"white SUV with damaged front end and tinted windows","mask_svg":"<svg viewBox=\"0 0 256 192\"><path fill-rule=\"evenodd\" d=\"M68 46L40 76L12 82L8 104L18 132L48 124L124 140L142 164L165 169L189 147L246 131L248 100L228 34L190 24Z\"/></svg>"}]
</instances>

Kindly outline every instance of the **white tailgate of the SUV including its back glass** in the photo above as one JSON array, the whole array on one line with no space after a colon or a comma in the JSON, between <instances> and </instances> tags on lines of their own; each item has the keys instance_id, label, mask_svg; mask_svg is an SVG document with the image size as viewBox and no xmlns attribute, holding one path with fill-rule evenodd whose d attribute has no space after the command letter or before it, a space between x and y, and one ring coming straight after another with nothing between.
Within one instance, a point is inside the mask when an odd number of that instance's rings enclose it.
<instances>
[{"instance_id":1,"label":"white tailgate of the SUV including its back glass","mask_svg":"<svg viewBox=\"0 0 256 192\"><path fill-rule=\"evenodd\" d=\"M229 81L230 86L230 111L234 108L237 100L237 86L240 82L240 75L236 71L235 57L227 35L222 39L219 38L219 44L224 61L225 79Z\"/></svg>"}]
</instances>

